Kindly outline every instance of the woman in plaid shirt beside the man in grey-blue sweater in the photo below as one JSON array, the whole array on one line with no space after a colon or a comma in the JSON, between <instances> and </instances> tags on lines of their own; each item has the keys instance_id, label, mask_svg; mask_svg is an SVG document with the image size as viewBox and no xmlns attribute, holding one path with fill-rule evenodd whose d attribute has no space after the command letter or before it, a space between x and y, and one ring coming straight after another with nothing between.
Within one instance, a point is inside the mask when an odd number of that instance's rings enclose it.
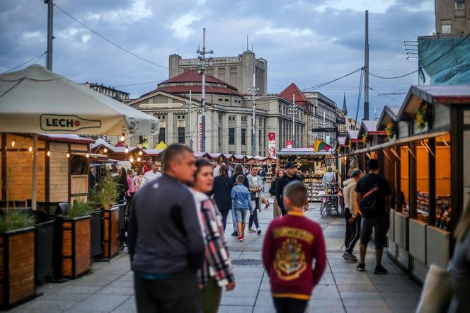
<instances>
[{"instance_id":1,"label":"woman in plaid shirt beside the man in grey-blue sweater","mask_svg":"<svg viewBox=\"0 0 470 313\"><path fill-rule=\"evenodd\" d=\"M202 307L205 313L217 313L222 297L222 287L234 290L235 278L231 271L229 249L224 238L224 227L219 209L207 193L214 181L212 164L207 159L197 159L193 195L200 213L200 224L206 240L204 265L199 270Z\"/></svg>"}]
</instances>

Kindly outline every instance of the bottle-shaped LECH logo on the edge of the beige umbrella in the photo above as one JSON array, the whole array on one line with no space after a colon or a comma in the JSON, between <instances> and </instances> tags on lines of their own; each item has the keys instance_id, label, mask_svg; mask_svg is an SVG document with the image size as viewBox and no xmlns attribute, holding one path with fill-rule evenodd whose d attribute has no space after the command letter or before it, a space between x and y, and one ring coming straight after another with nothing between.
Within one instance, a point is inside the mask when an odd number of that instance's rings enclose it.
<instances>
[{"instance_id":1,"label":"bottle-shaped LECH logo on the edge of the beige umbrella","mask_svg":"<svg viewBox=\"0 0 470 313\"><path fill-rule=\"evenodd\" d=\"M76 115L42 114L40 115L40 127L41 130L52 132L76 132L85 128L99 128L101 120L87 120Z\"/></svg>"}]
</instances>

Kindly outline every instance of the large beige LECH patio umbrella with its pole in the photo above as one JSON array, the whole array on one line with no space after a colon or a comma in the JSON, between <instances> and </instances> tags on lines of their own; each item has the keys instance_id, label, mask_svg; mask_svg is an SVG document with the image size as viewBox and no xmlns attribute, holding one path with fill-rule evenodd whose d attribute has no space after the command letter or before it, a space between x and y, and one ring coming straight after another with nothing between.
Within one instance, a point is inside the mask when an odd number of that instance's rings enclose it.
<instances>
[{"instance_id":1,"label":"large beige LECH patio umbrella with its pole","mask_svg":"<svg viewBox=\"0 0 470 313\"><path fill-rule=\"evenodd\" d=\"M33 207L38 133L154 135L151 115L104 96L40 65L0 75L0 132L33 134Z\"/></svg>"}]
</instances>

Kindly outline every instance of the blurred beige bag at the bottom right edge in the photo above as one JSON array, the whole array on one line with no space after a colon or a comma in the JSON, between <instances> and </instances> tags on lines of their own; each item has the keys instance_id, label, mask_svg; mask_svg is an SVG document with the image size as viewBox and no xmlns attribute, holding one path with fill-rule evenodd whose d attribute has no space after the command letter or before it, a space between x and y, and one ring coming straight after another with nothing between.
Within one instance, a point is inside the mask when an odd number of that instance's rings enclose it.
<instances>
[{"instance_id":1,"label":"blurred beige bag at the bottom right edge","mask_svg":"<svg viewBox=\"0 0 470 313\"><path fill-rule=\"evenodd\" d=\"M426 275L416 313L447 312L450 300L452 300L450 272L432 264Z\"/></svg>"}]
</instances>

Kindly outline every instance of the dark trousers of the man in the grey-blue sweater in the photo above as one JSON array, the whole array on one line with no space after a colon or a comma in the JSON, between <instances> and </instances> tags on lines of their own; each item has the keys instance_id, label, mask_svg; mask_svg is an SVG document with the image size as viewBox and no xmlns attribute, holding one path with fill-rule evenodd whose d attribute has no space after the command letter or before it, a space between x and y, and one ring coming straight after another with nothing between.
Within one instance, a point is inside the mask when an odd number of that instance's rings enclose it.
<instances>
[{"instance_id":1,"label":"dark trousers of the man in the grey-blue sweater","mask_svg":"<svg viewBox=\"0 0 470 313\"><path fill-rule=\"evenodd\" d=\"M198 313L201 309L197 273L190 268L159 280L134 273L134 290L139 313Z\"/></svg>"}]
</instances>

